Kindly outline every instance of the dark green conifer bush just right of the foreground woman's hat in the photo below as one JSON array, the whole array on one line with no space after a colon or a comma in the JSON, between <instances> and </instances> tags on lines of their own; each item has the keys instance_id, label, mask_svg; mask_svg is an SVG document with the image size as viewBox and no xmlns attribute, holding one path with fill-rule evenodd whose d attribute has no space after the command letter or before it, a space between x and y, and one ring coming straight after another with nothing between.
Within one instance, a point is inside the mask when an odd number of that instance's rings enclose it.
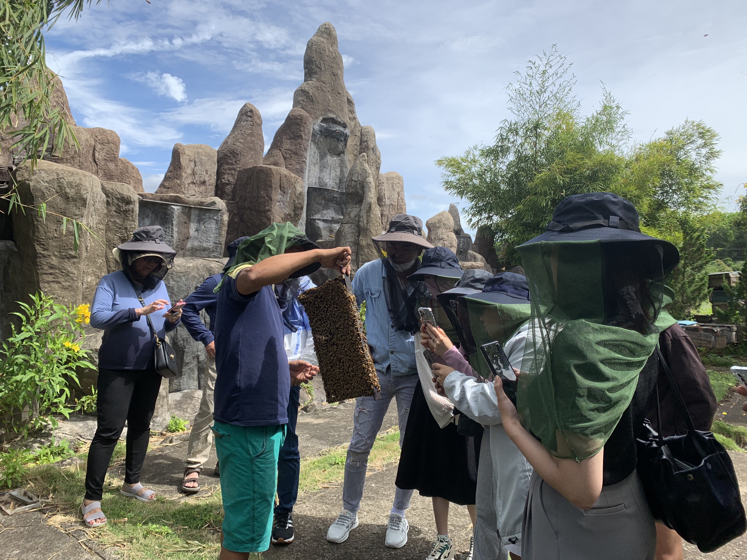
<instances>
[{"instance_id":1,"label":"dark green conifer bush just right of the foreground woman's hat","mask_svg":"<svg viewBox=\"0 0 747 560\"><path fill-rule=\"evenodd\" d=\"M675 290L675 302L669 305L669 313L676 319L686 319L692 317L693 309L708 299L708 274L705 268L713 259L713 254L706 246L705 228L695 217L682 217L679 228L682 232L680 264L668 282Z\"/></svg>"}]
</instances>

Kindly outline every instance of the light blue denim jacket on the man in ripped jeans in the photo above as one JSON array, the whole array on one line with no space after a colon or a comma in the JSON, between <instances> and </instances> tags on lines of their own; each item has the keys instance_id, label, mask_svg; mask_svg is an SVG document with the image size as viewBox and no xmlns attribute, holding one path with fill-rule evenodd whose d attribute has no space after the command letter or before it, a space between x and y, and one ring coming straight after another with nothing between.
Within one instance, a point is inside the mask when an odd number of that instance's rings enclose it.
<instances>
[{"instance_id":1,"label":"light blue denim jacket on the man in ripped jeans","mask_svg":"<svg viewBox=\"0 0 747 560\"><path fill-rule=\"evenodd\" d=\"M386 307L384 264L381 259L359 268L353 279L353 292L358 305L366 302L366 338L376 371L385 373L391 367L392 376L418 373L415 366L415 337L407 331L397 331Z\"/></svg>"}]
</instances>

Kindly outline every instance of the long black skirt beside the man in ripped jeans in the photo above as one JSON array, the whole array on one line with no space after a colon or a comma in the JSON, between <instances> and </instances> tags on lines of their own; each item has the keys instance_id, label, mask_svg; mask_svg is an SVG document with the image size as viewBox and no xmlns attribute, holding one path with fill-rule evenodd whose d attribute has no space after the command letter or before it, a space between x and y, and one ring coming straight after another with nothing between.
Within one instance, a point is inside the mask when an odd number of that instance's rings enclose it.
<instances>
[{"instance_id":1,"label":"long black skirt beside the man in ripped jeans","mask_svg":"<svg viewBox=\"0 0 747 560\"><path fill-rule=\"evenodd\" d=\"M459 505L474 504L481 439L457 434L453 423L440 428L418 381L402 442L397 488Z\"/></svg>"}]
</instances>

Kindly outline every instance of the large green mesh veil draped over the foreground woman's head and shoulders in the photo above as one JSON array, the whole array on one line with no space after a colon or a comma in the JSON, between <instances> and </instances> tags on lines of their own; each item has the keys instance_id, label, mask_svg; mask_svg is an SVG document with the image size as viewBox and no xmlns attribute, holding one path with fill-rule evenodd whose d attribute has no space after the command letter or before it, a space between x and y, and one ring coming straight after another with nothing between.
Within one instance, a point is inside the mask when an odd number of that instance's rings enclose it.
<instances>
[{"instance_id":1,"label":"large green mesh veil draped over the foreground woman's head and shoulders","mask_svg":"<svg viewBox=\"0 0 747 560\"><path fill-rule=\"evenodd\" d=\"M669 323L663 249L652 238L540 241L518 251L531 318L517 410L548 452L580 461L604 447Z\"/></svg>"}]
</instances>

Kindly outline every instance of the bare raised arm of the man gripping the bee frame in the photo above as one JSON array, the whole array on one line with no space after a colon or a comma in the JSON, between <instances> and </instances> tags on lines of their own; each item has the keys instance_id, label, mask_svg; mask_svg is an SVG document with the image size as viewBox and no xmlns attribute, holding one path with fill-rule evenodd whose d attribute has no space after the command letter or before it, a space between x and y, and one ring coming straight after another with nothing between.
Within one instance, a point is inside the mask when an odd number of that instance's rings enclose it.
<instances>
[{"instance_id":1,"label":"bare raised arm of the man gripping the bee frame","mask_svg":"<svg viewBox=\"0 0 747 560\"><path fill-rule=\"evenodd\" d=\"M321 263L324 267L337 270L339 273L350 273L350 247L311 249L268 257L252 267L241 270L236 279L236 289L241 295L248 296L264 286L271 286L287 279L297 270L312 263Z\"/></svg>"}]
</instances>

